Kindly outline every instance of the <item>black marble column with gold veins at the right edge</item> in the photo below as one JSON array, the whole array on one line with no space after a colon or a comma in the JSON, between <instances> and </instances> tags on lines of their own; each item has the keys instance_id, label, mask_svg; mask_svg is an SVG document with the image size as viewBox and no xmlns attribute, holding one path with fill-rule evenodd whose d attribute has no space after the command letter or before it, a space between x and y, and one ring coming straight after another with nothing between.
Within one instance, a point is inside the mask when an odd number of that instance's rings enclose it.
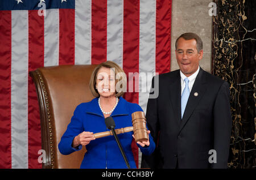
<instances>
[{"instance_id":1,"label":"black marble column with gold veins at the right edge","mask_svg":"<svg viewBox=\"0 0 256 180\"><path fill-rule=\"evenodd\" d=\"M229 168L256 168L256 1L214 0L212 74L230 85Z\"/></svg>"}]
</instances>

